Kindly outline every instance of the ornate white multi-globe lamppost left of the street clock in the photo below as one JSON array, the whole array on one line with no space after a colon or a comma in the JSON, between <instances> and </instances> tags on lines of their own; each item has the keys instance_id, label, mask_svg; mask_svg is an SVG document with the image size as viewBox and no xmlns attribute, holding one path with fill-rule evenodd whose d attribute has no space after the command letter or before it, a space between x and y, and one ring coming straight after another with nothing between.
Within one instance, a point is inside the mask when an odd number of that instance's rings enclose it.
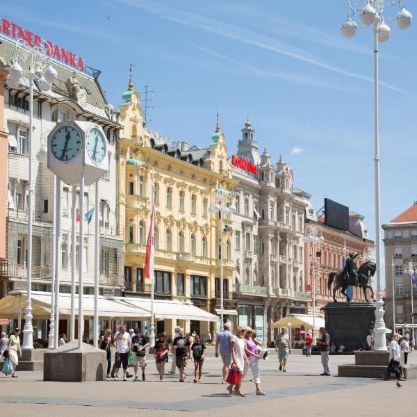
<instances>
[{"instance_id":1,"label":"ornate white multi-globe lamppost left of the street clock","mask_svg":"<svg viewBox=\"0 0 417 417\"><path fill-rule=\"evenodd\" d=\"M10 65L6 83L10 88L18 88L19 83L28 79L29 85L29 173L28 173L28 242L27 242L27 289L26 309L24 313L25 323L23 329L23 349L33 349L33 326L32 326L32 201L33 201L33 85L36 83L41 91L51 90L52 84L56 81L57 72L51 65L51 47L47 42L41 40L31 46L25 40L19 39L16 42L15 54ZM21 66L21 64L23 67ZM54 274L54 271L52 272Z\"/></svg>"}]
</instances>

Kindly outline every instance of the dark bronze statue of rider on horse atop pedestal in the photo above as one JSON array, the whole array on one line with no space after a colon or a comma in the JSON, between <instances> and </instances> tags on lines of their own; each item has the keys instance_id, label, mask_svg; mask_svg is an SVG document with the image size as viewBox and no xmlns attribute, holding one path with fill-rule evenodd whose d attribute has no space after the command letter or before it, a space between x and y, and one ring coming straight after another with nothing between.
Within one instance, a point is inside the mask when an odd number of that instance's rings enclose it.
<instances>
[{"instance_id":1,"label":"dark bronze statue of rider on horse atop pedestal","mask_svg":"<svg viewBox=\"0 0 417 417\"><path fill-rule=\"evenodd\" d=\"M333 281L333 300L336 301L336 291L341 288L341 293L345 295L347 302L350 302L350 297L345 293L345 290L348 286L359 286L363 290L363 295L365 295L365 300L368 300L366 296L366 290L370 289L370 297L373 300L373 288L370 286L370 281L375 275L377 270L377 265L375 262L366 261L362 263L359 268L357 268L356 262L354 261L359 255L349 254L349 257L345 261L345 268L341 272L330 272L329 279L327 280L327 288L330 289Z\"/></svg>"}]
</instances>

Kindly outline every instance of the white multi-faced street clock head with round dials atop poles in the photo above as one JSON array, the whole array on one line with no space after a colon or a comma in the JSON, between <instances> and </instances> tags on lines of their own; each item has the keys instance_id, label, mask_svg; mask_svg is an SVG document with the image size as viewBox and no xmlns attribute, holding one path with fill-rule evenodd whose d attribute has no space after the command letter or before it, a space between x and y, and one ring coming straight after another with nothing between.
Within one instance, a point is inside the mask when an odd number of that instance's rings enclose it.
<instances>
[{"instance_id":1,"label":"white multi-faced street clock head with round dials atop poles","mask_svg":"<svg viewBox=\"0 0 417 417\"><path fill-rule=\"evenodd\" d=\"M48 167L65 183L76 186L84 173L90 186L108 170L103 129L92 122L58 123L48 135Z\"/></svg>"}]
</instances>

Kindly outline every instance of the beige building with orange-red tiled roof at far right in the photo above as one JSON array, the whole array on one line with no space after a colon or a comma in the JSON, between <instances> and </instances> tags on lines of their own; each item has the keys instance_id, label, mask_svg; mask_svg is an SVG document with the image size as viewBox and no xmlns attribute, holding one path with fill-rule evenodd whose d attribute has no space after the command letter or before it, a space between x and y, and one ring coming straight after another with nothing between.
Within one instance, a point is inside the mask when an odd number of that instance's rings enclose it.
<instances>
[{"instance_id":1,"label":"beige building with orange-red tiled roof at far right","mask_svg":"<svg viewBox=\"0 0 417 417\"><path fill-rule=\"evenodd\" d=\"M382 225L384 229L385 323L393 328L393 293L395 295L395 324L411 323L411 277L402 272L410 268L411 262L417 268L417 202L407 208L391 222ZM394 267L391 266L392 262ZM394 270L394 271L393 271ZM413 285L414 311L416 309L417 286ZM414 318L415 321L416 317Z\"/></svg>"}]
</instances>

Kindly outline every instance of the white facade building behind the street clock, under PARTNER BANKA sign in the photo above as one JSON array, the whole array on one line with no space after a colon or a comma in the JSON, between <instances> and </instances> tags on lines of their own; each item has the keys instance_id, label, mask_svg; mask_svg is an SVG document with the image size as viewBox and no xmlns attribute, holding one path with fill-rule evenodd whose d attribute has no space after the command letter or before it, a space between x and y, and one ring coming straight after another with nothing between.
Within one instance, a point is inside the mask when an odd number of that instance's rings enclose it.
<instances>
[{"instance_id":1,"label":"white facade building behind the street clock, under PARTNER BANKA sign","mask_svg":"<svg viewBox=\"0 0 417 417\"><path fill-rule=\"evenodd\" d=\"M1 36L0 70L8 71L15 42ZM35 87L33 102L33 277L35 291L51 291L51 254L53 219L53 175L47 168L47 136L57 122L89 120L100 124L107 136L109 170L100 181L100 291L121 295L123 282L123 229L117 224L117 156L116 142L121 129L116 113L108 105L97 79L99 72L86 67L76 72L53 62L58 79L51 91ZM24 68L25 70L25 68ZM8 132L8 203L6 259L0 259L1 296L13 289L26 288L26 237L28 195L28 95L27 85L5 90L4 130ZM79 242L71 247L72 187L61 188L61 238L58 254L61 265L60 292L70 292L72 250L76 251L79 269ZM5 190L6 192L6 190ZM78 191L79 193L79 191ZM78 211L77 194L77 211ZM85 211L95 206L95 186L85 187ZM77 224L77 230L79 223ZM94 220L85 226L84 292L94 291ZM78 277L76 278L78 281ZM24 321L24 319L22 319ZM41 321L41 320L38 320ZM20 323L19 323L20 324ZM23 324L23 323L22 323ZM39 338L46 338L47 322L36 323ZM60 332L68 329L60 322ZM85 327L88 332L88 323ZM92 327L90 326L90 334Z\"/></svg>"}]
</instances>

